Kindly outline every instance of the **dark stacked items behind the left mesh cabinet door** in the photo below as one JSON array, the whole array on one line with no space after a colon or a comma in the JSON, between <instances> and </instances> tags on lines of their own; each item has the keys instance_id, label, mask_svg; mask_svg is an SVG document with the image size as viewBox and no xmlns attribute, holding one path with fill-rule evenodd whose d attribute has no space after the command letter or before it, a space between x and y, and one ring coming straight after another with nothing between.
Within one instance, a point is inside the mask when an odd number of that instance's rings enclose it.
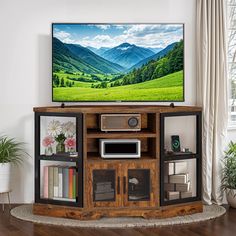
<instances>
[{"instance_id":1,"label":"dark stacked items behind the left mesh cabinet door","mask_svg":"<svg viewBox=\"0 0 236 236\"><path fill-rule=\"evenodd\" d=\"M112 182L98 182L95 184L94 200L107 201L115 197L115 190L112 188Z\"/></svg>"}]
</instances>

